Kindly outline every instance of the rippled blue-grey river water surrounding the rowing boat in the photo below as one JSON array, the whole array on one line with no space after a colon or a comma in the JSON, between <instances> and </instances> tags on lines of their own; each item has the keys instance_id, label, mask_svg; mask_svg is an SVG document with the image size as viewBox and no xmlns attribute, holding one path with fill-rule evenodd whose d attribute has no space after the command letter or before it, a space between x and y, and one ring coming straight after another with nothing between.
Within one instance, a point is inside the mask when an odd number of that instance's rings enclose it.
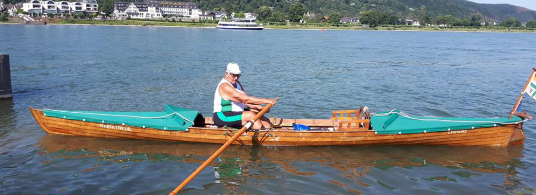
<instances>
[{"instance_id":1,"label":"rippled blue-grey river water surrounding the rowing boat","mask_svg":"<svg viewBox=\"0 0 536 195\"><path fill-rule=\"evenodd\" d=\"M219 145L47 135L28 107L212 112L228 62L271 114L368 106L506 117L536 62L530 33L233 31L0 25L0 194L167 194ZM536 113L536 101L523 109ZM535 194L536 123L514 147L232 146L184 194Z\"/></svg>"}]
</instances>

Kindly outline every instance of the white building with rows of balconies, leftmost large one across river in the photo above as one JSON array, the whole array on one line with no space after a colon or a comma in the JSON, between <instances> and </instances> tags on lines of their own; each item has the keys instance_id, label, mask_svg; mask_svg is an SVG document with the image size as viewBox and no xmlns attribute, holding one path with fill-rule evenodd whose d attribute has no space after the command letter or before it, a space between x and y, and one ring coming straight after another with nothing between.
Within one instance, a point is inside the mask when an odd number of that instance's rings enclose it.
<instances>
[{"instance_id":1,"label":"white building with rows of balconies, leftmost large one across river","mask_svg":"<svg viewBox=\"0 0 536 195\"><path fill-rule=\"evenodd\" d=\"M99 5L95 0L80 2L30 0L23 4L23 10L28 13L97 13Z\"/></svg>"}]
</instances>

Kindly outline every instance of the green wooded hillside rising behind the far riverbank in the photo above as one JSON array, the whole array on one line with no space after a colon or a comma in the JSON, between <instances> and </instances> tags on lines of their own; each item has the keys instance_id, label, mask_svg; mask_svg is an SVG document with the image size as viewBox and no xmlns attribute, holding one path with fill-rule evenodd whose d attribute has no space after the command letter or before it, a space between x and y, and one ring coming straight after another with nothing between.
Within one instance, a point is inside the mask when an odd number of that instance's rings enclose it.
<instances>
[{"instance_id":1,"label":"green wooded hillside rising behind the far riverbank","mask_svg":"<svg viewBox=\"0 0 536 195\"><path fill-rule=\"evenodd\" d=\"M0 0L4 4L27 2L27 0ZM75 1L75 0L71 0ZM99 0L99 2L105 0ZM115 0L121 2L143 2L143 0ZM186 0L171 0L186 1ZM306 5L306 11L329 15L339 12L343 17L356 17L360 11L378 10L403 19L418 19L421 5L426 6L430 17L452 15L454 18L470 18L481 13L485 20L502 21L514 17L526 22L536 19L536 11L509 4L481 4L465 0L191 0L202 10L226 12L256 12L260 6L272 6L274 11L288 12L294 2Z\"/></svg>"}]
</instances>

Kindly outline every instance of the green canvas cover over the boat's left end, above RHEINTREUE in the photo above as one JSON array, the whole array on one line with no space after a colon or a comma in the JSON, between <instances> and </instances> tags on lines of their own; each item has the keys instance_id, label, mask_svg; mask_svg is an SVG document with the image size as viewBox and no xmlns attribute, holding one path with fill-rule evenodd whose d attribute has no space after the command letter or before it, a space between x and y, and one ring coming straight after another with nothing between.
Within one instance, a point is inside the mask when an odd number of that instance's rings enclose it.
<instances>
[{"instance_id":1,"label":"green canvas cover over the boat's left end, above RHEINTREUE","mask_svg":"<svg viewBox=\"0 0 536 195\"><path fill-rule=\"evenodd\" d=\"M48 117L103 124L148 127L160 130L188 131L188 127L192 126L193 123L184 120L178 114L173 113L178 113L184 118L194 121L199 114L199 111L179 108L169 104L166 104L164 111L160 112L108 112L43 109L43 114Z\"/></svg>"}]
</instances>

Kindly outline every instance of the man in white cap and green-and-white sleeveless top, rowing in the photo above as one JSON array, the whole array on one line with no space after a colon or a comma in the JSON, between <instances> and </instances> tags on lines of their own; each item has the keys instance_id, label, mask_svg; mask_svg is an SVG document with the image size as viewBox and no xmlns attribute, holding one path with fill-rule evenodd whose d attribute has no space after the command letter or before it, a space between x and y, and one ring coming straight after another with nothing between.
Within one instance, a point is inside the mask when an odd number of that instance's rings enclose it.
<instances>
[{"instance_id":1,"label":"man in white cap and green-and-white sleeveless top, rowing","mask_svg":"<svg viewBox=\"0 0 536 195\"><path fill-rule=\"evenodd\" d=\"M262 104L271 103L276 105L276 99L266 99L249 96L245 93L240 78L240 67L236 63L227 64L225 77L221 79L214 93L214 124L216 126L228 126L241 128L264 107ZM272 125L266 117L260 117L252 129L269 128Z\"/></svg>"}]
</instances>

